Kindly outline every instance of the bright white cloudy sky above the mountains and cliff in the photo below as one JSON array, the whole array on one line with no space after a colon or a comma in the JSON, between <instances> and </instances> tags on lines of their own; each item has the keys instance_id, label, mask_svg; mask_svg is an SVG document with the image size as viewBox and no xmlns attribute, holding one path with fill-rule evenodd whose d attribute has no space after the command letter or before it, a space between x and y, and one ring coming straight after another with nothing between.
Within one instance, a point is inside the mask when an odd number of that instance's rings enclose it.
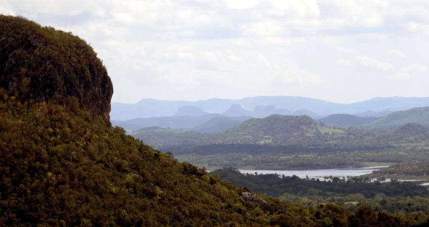
<instances>
[{"instance_id":1,"label":"bright white cloudy sky above the mountains and cliff","mask_svg":"<svg viewBox=\"0 0 429 227\"><path fill-rule=\"evenodd\" d=\"M427 0L0 0L86 40L112 102L429 96Z\"/></svg>"}]
</instances>

